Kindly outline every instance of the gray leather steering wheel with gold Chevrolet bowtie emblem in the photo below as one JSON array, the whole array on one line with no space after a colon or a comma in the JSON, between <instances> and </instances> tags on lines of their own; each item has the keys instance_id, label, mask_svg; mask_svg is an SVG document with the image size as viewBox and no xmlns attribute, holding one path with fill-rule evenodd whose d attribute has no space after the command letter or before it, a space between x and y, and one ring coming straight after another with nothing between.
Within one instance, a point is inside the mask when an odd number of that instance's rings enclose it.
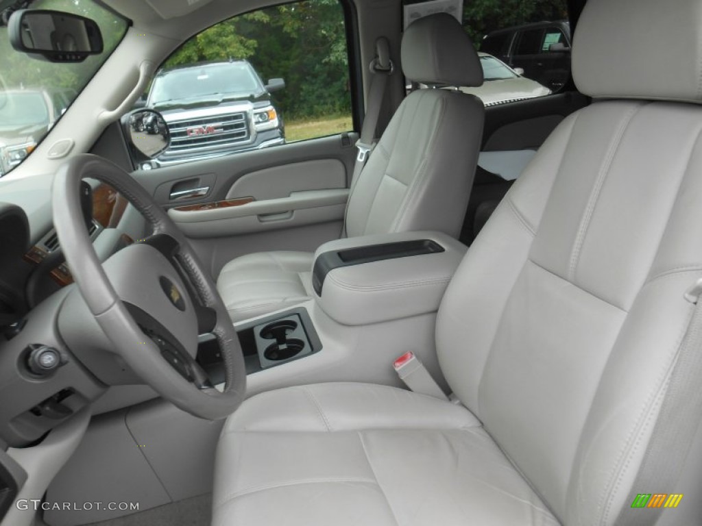
<instances>
[{"instance_id":1,"label":"gray leather steering wheel with gold Chevrolet bowtie emblem","mask_svg":"<svg viewBox=\"0 0 702 526\"><path fill-rule=\"evenodd\" d=\"M110 184L153 227L145 240L100 263L85 227L80 183ZM94 155L79 155L53 181L53 222L88 309L119 355L166 400L206 419L227 417L246 391L239 339L215 283L187 238L147 191L124 170ZM217 339L224 389L213 386L194 360L199 334Z\"/></svg>"}]
</instances>

